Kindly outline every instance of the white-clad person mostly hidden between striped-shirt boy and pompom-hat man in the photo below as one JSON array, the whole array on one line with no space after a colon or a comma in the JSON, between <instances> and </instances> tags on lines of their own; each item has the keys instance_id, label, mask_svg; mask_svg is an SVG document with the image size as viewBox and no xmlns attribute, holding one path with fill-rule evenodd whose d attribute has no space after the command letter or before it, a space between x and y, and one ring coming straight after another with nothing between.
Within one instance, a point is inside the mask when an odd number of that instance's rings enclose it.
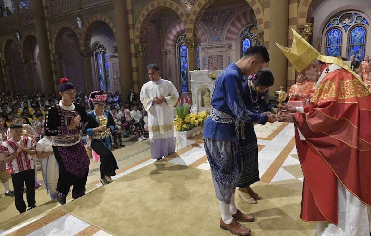
<instances>
[{"instance_id":1,"label":"white-clad person mostly hidden between striped-shirt boy and pompom-hat man","mask_svg":"<svg viewBox=\"0 0 371 236\"><path fill-rule=\"evenodd\" d=\"M57 182L59 178L58 163L54 156L52 147L52 137L44 136L37 142L36 145L37 158L41 164L41 171L46 192L49 193L50 198L53 200L57 197Z\"/></svg>"}]
</instances>

